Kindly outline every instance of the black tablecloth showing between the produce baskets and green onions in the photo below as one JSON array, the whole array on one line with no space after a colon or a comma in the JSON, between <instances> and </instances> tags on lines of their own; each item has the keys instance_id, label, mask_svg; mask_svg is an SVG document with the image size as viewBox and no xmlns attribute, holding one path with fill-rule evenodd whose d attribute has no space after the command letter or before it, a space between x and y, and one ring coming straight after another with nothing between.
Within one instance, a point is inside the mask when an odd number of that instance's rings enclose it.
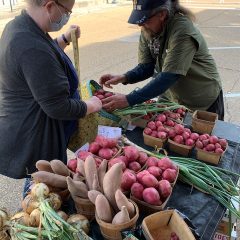
<instances>
[{"instance_id":1,"label":"black tablecloth showing between the produce baskets and green onions","mask_svg":"<svg viewBox=\"0 0 240 240\"><path fill-rule=\"evenodd\" d=\"M153 148L144 145L142 129L136 128L133 131L127 131L126 136L135 144L147 150L153 150ZM228 141L228 144L228 149L222 157L219 167L240 173L240 146L238 143L231 141ZM171 156L171 153L169 155ZM237 182L237 178L233 180ZM178 209L185 214L197 228L196 231L199 233L201 240L213 239L218 223L226 211L225 207L219 204L214 197L180 181L177 181L174 186L167 207ZM140 216L139 224L141 224L143 217L143 215ZM95 221L91 223L90 236L96 240L103 239Z\"/></svg>"}]
</instances>

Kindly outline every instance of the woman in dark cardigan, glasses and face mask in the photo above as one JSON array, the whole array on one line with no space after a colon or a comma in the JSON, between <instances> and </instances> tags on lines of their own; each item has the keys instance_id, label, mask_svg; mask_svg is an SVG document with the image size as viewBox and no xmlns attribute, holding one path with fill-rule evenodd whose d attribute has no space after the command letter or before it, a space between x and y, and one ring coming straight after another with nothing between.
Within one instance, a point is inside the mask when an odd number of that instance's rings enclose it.
<instances>
[{"instance_id":1,"label":"woman in dark cardigan, glasses and face mask","mask_svg":"<svg viewBox=\"0 0 240 240\"><path fill-rule=\"evenodd\" d=\"M48 32L67 22L74 0L28 0L0 40L0 174L24 178L39 159L67 161L76 120L101 109L77 93L74 67L62 49L70 30L53 40ZM79 31L78 28L76 28Z\"/></svg>"}]
</instances>

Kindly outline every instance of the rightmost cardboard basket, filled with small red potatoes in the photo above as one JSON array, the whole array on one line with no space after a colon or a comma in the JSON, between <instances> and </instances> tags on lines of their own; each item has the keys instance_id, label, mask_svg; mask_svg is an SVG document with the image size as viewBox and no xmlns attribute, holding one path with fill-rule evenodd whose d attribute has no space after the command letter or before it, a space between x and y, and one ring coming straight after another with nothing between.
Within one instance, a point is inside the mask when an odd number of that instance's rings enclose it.
<instances>
[{"instance_id":1,"label":"rightmost cardboard basket, filled with small red potatoes","mask_svg":"<svg viewBox=\"0 0 240 240\"><path fill-rule=\"evenodd\" d=\"M226 152L227 147L222 154L207 152L207 151L204 151L200 148L195 148L195 149L196 149L196 158L198 160L201 160L201 161L207 162L207 163L211 163L211 164L214 164L214 165L218 165L220 160L221 160L221 157Z\"/></svg>"}]
</instances>

